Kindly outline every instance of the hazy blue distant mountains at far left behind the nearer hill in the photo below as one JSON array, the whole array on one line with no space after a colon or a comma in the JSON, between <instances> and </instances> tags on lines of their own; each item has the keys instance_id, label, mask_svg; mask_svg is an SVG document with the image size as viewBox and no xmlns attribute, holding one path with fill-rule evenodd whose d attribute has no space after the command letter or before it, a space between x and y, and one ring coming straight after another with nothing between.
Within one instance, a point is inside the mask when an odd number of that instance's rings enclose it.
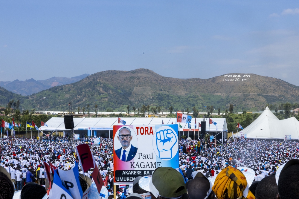
<instances>
[{"instance_id":1,"label":"hazy blue distant mountains at far left behind the nearer hill","mask_svg":"<svg viewBox=\"0 0 299 199\"><path fill-rule=\"evenodd\" d=\"M0 86L16 94L21 94L24 96L31 95L33 93L38 93L39 91L46 90L53 86L60 86L64 84L71 84L77 82L89 74L83 74L75 77L52 77L46 80L35 80L33 78L26 79L25 81L20 81L18 79L13 82L0 82Z\"/></svg>"}]
</instances>

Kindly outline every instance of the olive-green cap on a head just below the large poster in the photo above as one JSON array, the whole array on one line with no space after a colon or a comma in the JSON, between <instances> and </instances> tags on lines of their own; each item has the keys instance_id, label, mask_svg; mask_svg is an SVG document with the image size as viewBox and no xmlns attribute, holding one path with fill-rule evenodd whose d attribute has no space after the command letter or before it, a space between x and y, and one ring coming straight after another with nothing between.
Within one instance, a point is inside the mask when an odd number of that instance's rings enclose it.
<instances>
[{"instance_id":1,"label":"olive-green cap on a head just below the large poster","mask_svg":"<svg viewBox=\"0 0 299 199\"><path fill-rule=\"evenodd\" d=\"M180 172L171 167L159 167L152 175L150 192L157 198L176 199L187 193L184 178Z\"/></svg>"}]
</instances>

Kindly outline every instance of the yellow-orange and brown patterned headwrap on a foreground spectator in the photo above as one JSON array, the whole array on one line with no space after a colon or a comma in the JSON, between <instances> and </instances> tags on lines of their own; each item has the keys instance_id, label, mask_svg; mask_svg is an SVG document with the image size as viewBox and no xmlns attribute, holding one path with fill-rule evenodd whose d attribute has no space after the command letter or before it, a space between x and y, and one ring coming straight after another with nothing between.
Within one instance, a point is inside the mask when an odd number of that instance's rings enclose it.
<instances>
[{"instance_id":1,"label":"yellow-orange and brown patterned headwrap on a foreground spectator","mask_svg":"<svg viewBox=\"0 0 299 199\"><path fill-rule=\"evenodd\" d=\"M255 199L246 186L244 174L239 169L228 166L217 175L212 190L218 199ZM244 190L248 190L246 197L243 196Z\"/></svg>"}]
</instances>

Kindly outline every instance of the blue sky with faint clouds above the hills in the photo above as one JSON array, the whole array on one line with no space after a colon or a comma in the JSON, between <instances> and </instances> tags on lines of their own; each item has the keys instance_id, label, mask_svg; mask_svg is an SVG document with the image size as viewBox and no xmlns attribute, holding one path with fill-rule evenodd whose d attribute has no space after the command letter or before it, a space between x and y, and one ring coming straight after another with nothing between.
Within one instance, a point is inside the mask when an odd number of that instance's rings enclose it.
<instances>
[{"instance_id":1,"label":"blue sky with faint clouds above the hills","mask_svg":"<svg viewBox=\"0 0 299 199\"><path fill-rule=\"evenodd\" d=\"M299 1L0 1L0 81L148 68L299 85Z\"/></svg>"}]
</instances>

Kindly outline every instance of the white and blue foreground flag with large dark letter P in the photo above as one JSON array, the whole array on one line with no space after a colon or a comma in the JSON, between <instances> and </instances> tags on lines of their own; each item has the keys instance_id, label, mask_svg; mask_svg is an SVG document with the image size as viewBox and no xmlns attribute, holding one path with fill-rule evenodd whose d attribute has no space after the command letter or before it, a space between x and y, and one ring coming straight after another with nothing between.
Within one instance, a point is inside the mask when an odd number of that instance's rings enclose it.
<instances>
[{"instance_id":1,"label":"white and blue foreground flag with large dark letter P","mask_svg":"<svg viewBox=\"0 0 299 199\"><path fill-rule=\"evenodd\" d=\"M79 169L78 163L75 164L71 170L57 169L62 184L71 192L74 199L81 199L83 197L83 191L79 181Z\"/></svg>"}]
</instances>

